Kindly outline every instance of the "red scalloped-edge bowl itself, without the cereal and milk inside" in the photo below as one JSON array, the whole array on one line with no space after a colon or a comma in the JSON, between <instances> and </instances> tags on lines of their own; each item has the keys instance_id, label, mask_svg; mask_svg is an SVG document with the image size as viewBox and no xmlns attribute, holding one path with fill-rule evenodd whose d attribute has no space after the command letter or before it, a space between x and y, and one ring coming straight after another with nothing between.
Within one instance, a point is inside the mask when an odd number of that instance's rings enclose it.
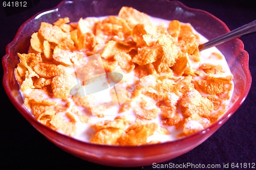
<instances>
[{"instance_id":1,"label":"red scalloped-edge bowl itself, without the cereal and milk inside","mask_svg":"<svg viewBox=\"0 0 256 170\"><path fill-rule=\"evenodd\" d=\"M3 58L4 87L13 105L18 111L44 136L59 148L81 159L111 166L145 166L152 165L178 157L205 141L241 106L251 85L251 75L248 67L248 53L244 51L243 42L239 39L218 45L225 56L233 74L234 92L229 109L225 114L207 129L193 135L158 144L139 147L119 147L112 145L97 145L82 142L60 134L37 122L31 113L23 106L19 86L14 77L14 68L19 59L17 53L27 53L32 33L39 29L40 22L53 23L59 17L68 16L71 21L80 17L116 15L122 6L130 6L163 19L177 19L189 22L207 39L212 39L229 32L228 27L215 16L197 9L191 9L177 1L63 1L56 8L43 11L27 20L18 30L14 40L7 46L7 54Z\"/></svg>"}]
</instances>

